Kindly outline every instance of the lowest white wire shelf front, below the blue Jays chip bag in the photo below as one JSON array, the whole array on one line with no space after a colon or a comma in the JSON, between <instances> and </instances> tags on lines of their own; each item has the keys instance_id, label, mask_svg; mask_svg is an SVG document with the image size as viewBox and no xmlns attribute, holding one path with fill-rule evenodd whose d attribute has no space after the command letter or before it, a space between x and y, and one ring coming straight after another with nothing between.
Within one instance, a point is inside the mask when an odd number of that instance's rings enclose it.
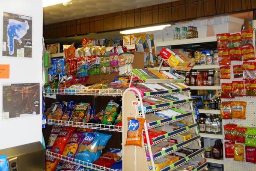
<instances>
[{"instance_id":1,"label":"lowest white wire shelf front, below the blue Jays chip bag","mask_svg":"<svg viewBox=\"0 0 256 171\"><path fill-rule=\"evenodd\" d=\"M75 165L80 165L80 166L83 166L83 167L86 167L86 168L90 168L94 171L117 171L117 170L114 170L114 169L106 168L104 166L95 165L95 164L92 164L92 163L84 162L82 160L78 160L78 159L74 159L74 158L71 158L71 157L63 156L63 155L51 152L50 150L46 150L46 155L50 156L50 157L54 157L55 159L60 159L64 162L69 162L69 163L72 163L72 164L75 164Z\"/></svg>"}]
</instances>

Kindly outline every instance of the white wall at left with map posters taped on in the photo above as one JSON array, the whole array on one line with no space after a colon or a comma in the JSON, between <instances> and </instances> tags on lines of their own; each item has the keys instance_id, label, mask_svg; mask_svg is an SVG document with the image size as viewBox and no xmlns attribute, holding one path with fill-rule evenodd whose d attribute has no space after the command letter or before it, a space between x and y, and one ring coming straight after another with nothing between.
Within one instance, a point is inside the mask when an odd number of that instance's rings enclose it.
<instances>
[{"instance_id":1,"label":"white wall at left with map posters taped on","mask_svg":"<svg viewBox=\"0 0 256 171\"><path fill-rule=\"evenodd\" d=\"M0 149L42 140L41 114L2 119L3 83L42 83L42 10L42 0L0 0L0 30L3 29L3 12L33 17L33 59L2 57L0 31L0 64L10 65L10 78L0 79Z\"/></svg>"}]
</instances>

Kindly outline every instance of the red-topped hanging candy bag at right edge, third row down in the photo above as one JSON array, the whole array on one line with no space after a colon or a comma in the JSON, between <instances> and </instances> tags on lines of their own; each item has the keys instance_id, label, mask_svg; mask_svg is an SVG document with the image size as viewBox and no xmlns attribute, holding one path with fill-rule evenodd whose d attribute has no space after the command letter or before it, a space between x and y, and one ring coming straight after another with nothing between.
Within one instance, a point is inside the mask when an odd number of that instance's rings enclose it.
<instances>
[{"instance_id":1,"label":"red-topped hanging candy bag at right edge, third row down","mask_svg":"<svg viewBox=\"0 0 256 171\"><path fill-rule=\"evenodd\" d=\"M256 79L256 62L243 62L243 80Z\"/></svg>"}]
</instances>

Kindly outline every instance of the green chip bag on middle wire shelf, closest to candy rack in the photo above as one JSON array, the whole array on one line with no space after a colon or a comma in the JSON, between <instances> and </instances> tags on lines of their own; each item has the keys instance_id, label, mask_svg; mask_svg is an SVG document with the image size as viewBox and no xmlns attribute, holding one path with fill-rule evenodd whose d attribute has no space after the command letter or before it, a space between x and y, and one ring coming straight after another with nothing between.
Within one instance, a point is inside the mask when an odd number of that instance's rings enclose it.
<instances>
[{"instance_id":1,"label":"green chip bag on middle wire shelf, closest to candy rack","mask_svg":"<svg viewBox=\"0 0 256 171\"><path fill-rule=\"evenodd\" d=\"M116 121L117 114L120 112L121 105L119 102L110 100L105 109L103 121L101 124L113 125Z\"/></svg>"}]
</instances>

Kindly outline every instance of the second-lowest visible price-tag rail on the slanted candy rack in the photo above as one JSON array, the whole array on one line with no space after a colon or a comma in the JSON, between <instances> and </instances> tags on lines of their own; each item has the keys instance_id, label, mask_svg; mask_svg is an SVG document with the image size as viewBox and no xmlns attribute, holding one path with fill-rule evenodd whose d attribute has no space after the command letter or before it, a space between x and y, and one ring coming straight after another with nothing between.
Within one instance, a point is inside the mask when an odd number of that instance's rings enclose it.
<instances>
[{"instance_id":1,"label":"second-lowest visible price-tag rail on the slanted candy rack","mask_svg":"<svg viewBox=\"0 0 256 171\"><path fill-rule=\"evenodd\" d=\"M185 165L188 161L191 161L192 159L196 158L197 156L200 156L204 153L205 149L201 148L199 150L197 150L196 152L184 157L183 159L180 159L178 162L173 163L170 166L167 166L163 169L161 169L160 171L173 171L176 168L179 168L182 165Z\"/></svg>"}]
</instances>

